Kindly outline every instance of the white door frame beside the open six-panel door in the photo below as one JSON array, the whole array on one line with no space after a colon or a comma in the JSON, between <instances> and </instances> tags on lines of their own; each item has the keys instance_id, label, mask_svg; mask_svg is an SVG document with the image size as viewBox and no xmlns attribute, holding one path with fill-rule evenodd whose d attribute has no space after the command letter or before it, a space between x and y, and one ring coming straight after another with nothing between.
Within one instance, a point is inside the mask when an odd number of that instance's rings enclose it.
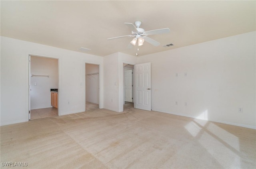
<instances>
[{"instance_id":1,"label":"white door frame beside the open six-panel door","mask_svg":"<svg viewBox=\"0 0 256 169\"><path fill-rule=\"evenodd\" d=\"M124 64L129 64L129 65L133 65L133 70L134 70L134 65L136 65L135 63L131 63L131 62L127 62L127 61L122 61L122 73L121 74L121 81L119 81L120 84L120 90L122 91L120 92L120 102L119 102L119 106L120 106L120 111L119 112L123 112L124 111ZM120 70L120 69L119 69ZM132 85L134 86L134 76L132 76ZM133 96L134 96L134 90L132 91ZM135 102L135 98L133 98L133 104Z\"/></svg>"}]
</instances>

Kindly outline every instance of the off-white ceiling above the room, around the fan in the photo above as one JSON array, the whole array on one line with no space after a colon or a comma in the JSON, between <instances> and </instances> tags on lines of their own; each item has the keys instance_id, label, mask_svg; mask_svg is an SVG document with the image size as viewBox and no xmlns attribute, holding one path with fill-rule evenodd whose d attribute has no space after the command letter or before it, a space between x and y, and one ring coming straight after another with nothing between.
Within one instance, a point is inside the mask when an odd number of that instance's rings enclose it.
<instances>
[{"instance_id":1,"label":"off-white ceiling above the room, around the fan","mask_svg":"<svg viewBox=\"0 0 256 169\"><path fill-rule=\"evenodd\" d=\"M124 22L141 20L160 46L144 42L139 55L170 50L256 30L256 1L1 1L1 35L98 56L127 48L132 37ZM173 43L172 47L163 47ZM91 49L80 51L80 47Z\"/></svg>"}]
</instances>

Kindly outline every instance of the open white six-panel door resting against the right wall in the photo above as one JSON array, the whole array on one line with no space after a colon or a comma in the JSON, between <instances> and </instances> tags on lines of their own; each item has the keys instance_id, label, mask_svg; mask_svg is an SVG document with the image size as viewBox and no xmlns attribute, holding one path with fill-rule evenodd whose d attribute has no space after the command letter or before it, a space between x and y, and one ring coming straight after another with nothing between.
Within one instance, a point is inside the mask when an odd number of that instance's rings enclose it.
<instances>
[{"instance_id":1,"label":"open white six-panel door resting against the right wall","mask_svg":"<svg viewBox=\"0 0 256 169\"><path fill-rule=\"evenodd\" d=\"M135 65L135 108L151 111L151 63Z\"/></svg>"}]
</instances>

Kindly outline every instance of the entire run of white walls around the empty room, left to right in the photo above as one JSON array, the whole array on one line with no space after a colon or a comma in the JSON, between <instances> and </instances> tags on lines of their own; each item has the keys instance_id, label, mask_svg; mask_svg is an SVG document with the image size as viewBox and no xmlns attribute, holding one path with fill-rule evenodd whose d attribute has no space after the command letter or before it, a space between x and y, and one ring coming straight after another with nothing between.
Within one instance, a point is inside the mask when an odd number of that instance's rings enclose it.
<instances>
[{"instance_id":1,"label":"entire run of white walls around the empty room, left to right","mask_svg":"<svg viewBox=\"0 0 256 169\"><path fill-rule=\"evenodd\" d=\"M120 112L123 63L151 62L153 110L255 128L255 36L250 32L138 58L98 57L1 37L1 125L28 121L28 55L39 55L59 59L60 115L85 110L85 63L100 65L100 105Z\"/></svg>"}]
</instances>

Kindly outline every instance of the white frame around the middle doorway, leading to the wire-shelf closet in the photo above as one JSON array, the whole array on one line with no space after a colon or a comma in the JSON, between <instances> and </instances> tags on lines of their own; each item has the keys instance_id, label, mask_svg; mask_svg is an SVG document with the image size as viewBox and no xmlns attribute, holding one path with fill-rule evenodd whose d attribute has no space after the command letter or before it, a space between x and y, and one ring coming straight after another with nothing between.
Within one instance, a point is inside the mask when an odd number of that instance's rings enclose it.
<instances>
[{"instance_id":1,"label":"white frame around the middle doorway, leading to the wire-shelf closet","mask_svg":"<svg viewBox=\"0 0 256 169\"><path fill-rule=\"evenodd\" d=\"M86 110L86 64L92 64L92 65L98 65L99 66L99 108L103 108L103 104L102 104L102 88L103 88L103 84L102 84L102 65L99 63L93 63L93 62L85 62L84 63L84 111Z\"/></svg>"}]
</instances>

